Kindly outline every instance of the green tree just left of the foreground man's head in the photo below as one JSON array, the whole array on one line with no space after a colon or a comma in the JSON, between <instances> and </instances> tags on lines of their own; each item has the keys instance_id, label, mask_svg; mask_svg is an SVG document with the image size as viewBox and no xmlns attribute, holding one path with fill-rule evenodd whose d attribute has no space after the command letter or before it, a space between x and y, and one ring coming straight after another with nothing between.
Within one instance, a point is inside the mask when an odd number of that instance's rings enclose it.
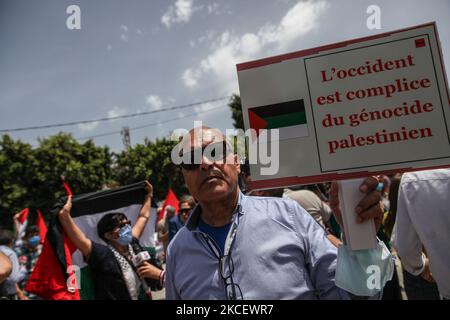
<instances>
[{"instance_id":1,"label":"green tree just left of the foreground man's head","mask_svg":"<svg viewBox=\"0 0 450 320\"><path fill-rule=\"evenodd\" d=\"M121 185L149 180L156 201L164 200L167 190L178 196L187 193L180 167L173 164L170 154L177 144L169 139L145 140L121 152L116 157L114 179Z\"/></svg>"}]
</instances>

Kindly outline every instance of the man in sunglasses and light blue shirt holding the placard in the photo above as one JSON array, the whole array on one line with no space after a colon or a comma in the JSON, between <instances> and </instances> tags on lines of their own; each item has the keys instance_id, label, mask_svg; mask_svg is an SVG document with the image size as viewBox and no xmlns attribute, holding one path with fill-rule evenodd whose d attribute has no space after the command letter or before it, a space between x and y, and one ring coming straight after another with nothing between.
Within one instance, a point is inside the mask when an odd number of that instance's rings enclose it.
<instances>
[{"instance_id":1,"label":"man in sunglasses and light blue shirt holding the placard","mask_svg":"<svg viewBox=\"0 0 450 320\"><path fill-rule=\"evenodd\" d=\"M223 134L192 129L179 144L182 171L198 201L168 248L167 299L348 299L335 284L337 249L297 203L245 196L239 158ZM367 178L362 220L383 210L378 181ZM337 184L332 207L341 221Z\"/></svg>"}]
</instances>

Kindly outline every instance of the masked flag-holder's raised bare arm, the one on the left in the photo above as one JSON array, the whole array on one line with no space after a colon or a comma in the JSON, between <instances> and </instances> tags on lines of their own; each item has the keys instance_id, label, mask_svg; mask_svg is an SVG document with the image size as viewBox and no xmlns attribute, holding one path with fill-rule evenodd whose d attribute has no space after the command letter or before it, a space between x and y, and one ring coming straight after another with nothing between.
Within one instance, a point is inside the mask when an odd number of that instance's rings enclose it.
<instances>
[{"instance_id":1,"label":"masked flag-holder's raised bare arm, the one on the left","mask_svg":"<svg viewBox=\"0 0 450 320\"><path fill-rule=\"evenodd\" d=\"M81 229L75 224L70 216L72 209L72 196L67 198L64 207L59 211L59 222L69 239L73 242L75 247L81 251L85 258L88 258L92 251L92 241L89 240Z\"/></svg>"}]
</instances>

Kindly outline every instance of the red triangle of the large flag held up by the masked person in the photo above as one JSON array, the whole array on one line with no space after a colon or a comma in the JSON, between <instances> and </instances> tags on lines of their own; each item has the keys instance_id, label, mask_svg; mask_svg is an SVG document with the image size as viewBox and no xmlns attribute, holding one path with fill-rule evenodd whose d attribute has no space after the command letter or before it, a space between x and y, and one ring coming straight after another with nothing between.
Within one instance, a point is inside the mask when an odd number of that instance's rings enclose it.
<instances>
[{"instance_id":1,"label":"red triangle of the large flag held up by the masked person","mask_svg":"<svg viewBox=\"0 0 450 320\"><path fill-rule=\"evenodd\" d=\"M71 266L72 253L76 248L65 234L62 238L64 241L66 266ZM66 271L62 270L55 251L47 238L25 290L46 300L80 300L80 293L76 286L71 287L73 289L68 289L68 282L73 285L74 280L76 280L75 270L71 270L67 282L63 274Z\"/></svg>"}]
</instances>

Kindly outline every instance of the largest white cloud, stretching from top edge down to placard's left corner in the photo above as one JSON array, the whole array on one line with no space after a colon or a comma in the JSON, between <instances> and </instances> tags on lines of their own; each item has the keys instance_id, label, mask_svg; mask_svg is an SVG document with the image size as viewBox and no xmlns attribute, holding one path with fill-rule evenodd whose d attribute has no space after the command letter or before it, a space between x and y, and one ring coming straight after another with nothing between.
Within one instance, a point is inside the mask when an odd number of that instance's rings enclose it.
<instances>
[{"instance_id":1,"label":"largest white cloud, stretching from top edge down to placard's left corner","mask_svg":"<svg viewBox=\"0 0 450 320\"><path fill-rule=\"evenodd\" d=\"M319 25L319 17L328 8L326 0L299 1L275 24L266 24L256 33L242 36L225 31L211 44L211 52L198 67L186 69L181 79L186 87L194 88L205 76L213 75L224 93L237 90L236 64L255 59L259 54L280 53L300 37Z\"/></svg>"}]
</instances>

